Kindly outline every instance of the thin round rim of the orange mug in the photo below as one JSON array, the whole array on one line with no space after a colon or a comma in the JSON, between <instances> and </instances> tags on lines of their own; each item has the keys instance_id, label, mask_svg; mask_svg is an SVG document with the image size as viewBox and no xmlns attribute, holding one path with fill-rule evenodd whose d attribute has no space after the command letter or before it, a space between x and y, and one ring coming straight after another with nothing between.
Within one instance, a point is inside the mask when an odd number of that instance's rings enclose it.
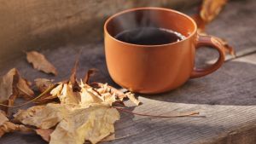
<instances>
[{"instance_id":1,"label":"thin round rim of the orange mug","mask_svg":"<svg viewBox=\"0 0 256 144\"><path fill-rule=\"evenodd\" d=\"M168 12L172 12L172 13L176 13L176 14L181 14L183 15L184 17L186 17L187 19L189 19L195 29L194 31L189 35L189 37L185 37L183 40L181 41L178 41L178 42L174 42L174 43L166 43L166 44L153 44L153 45L145 45L145 44L134 44L134 43L126 43L126 42L123 42L123 41L120 41L119 39L113 37L109 32L108 32L108 29L107 29L107 26L108 26L108 23L113 20L113 18L121 15L121 14L125 14L125 13L130 13L130 12L133 12L133 11L137 11L137 10L165 10L165 11L168 11ZM177 43L182 43L184 41L187 41L190 37L193 37L195 35L195 33L197 32L197 25L195 23L195 20L193 20L189 15L187 14L183 14L177 10L173 10L173 9L166 9L166 8L159 8L159 7L141 7L141 8L134 8L134 9L126 9L126 10L123 10L123 11L120 11L119 13L116 13L116 14L113 14L112 16L110 16L106 21L105 21L105 24L104 24L104 32L106 32L108 34L109 37L111 37L114 41L117 41L119 43L123 43L123 44L126 44L126 45L133 45L133 46L137 46L137 47L160 47L160 46L168 46L168 45L174 45L174 44L177 44Z\"/></svg>"}]
</instances>

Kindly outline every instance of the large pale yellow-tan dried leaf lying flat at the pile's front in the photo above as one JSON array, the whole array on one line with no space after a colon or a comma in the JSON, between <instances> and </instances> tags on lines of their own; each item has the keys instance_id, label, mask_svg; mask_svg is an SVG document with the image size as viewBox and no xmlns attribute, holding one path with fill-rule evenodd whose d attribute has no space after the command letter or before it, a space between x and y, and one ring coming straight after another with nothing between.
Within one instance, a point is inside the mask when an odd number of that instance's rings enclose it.
<instances>
[{"instance_id":1,"label":"large pale yellow-tan dried leaf lying flat at the pile's front","mask_svg":"<svg viewBox=\"0 0 256 144\"><path fill-rule=\"evenodd\" d=\"M102 141L114 132L113 123L119 120L119 112L111 107L79 108L62 120L50 135L51 144L83 144Z\"/></svg>"}]
</instances>

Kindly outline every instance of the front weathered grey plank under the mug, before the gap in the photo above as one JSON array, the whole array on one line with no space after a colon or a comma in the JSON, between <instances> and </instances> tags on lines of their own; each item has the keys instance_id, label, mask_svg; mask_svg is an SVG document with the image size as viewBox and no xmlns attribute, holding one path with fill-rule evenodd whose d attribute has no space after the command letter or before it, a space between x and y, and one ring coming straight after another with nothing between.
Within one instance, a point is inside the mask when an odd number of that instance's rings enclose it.
<instances>
[{"instance_id":1,"label":"front weathered grey plank under the mug, before the gap","mask_svg":"<svg viewBox=\"0 0 256 144\"><path fill-rule=\"evenodd\" d=\"M102 44L86 45L81 48L84 50L80 57L79 77L86 69L96 67L100 69L100 75L96 80L112 84L105 66ZM79 47L70 46L43 51L60 71L60 77L55 79L61 80L68 77L79 49ZM172 92L141 96L139 99L143 101L143 105L134 109L135 112L147 114L200 111L207 118L142 118L123 113L122 120L116 125L116 133L118 137L125 136L125 138L113 143L215 142L230 136L232 132L236 133L236 130L254 130L256 127L255 58L256 54L253 54L230 60L217 72L205 78L189 80L187 84ZM54 78L33 70L32 66L26 63L25 56L13 60L10 65L3 66L4 71L1 73L13 66L30 80L38 77ZM233 139L234 136L230 137ZM31 139L38 141L31 141ZM18 134L5 135L0 141L44 143L32 135L24 138L24 135Z\"/></svg>"}]
</instances>

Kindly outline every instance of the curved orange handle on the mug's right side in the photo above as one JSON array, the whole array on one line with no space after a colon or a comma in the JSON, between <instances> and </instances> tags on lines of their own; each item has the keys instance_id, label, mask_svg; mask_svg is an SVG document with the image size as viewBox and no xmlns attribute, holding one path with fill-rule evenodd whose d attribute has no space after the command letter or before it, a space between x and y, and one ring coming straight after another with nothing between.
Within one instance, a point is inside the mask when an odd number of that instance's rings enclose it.
<instances>
[{"instance_id":1,"label":"curved orange handle on the mug's right side","mask_svg":"<svg viewBox=\"0 0 256 144\"><path fill-rule=\"evenodd\" d=\"M224 45L218 41L217 37L212 36L201 36L198 35L195 49L199 49L202 46L209 46L210 48L218 50L218 60L212 64L211 66L207 66L206 68L194 68L193 72L191 73L190 78L199 78L206 76L214 71L216 71L225 60L225 53L224 53Z\"/></svg>"}]
</instances>

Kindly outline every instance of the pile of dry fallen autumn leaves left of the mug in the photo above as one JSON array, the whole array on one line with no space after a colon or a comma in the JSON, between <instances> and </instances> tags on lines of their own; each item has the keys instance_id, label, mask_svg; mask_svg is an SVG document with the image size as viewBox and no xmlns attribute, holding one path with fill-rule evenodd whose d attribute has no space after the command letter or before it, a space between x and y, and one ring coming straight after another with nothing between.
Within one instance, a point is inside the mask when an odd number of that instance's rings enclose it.
<instances>
[{"instance_id":1,"label":"pile of dry fallen autumn leaves left of the mug","mask_svg":"<svg viewBox=\"0 0 256 144\"><path fill-rule=\"evenodd\" d=\"M26 53L27 61L39 71L57 74L55 66L44 55L36 51ZM125 110L124 100L129 99L137 106L140 101L131 92L122 92L108 84L91 83L90 76L96 69L90 69L80 81L76 78L78 60L67 80L53 83L53 80L37 78L36 90L41 94L34 96L32 83L20 76L13 68L0 79L0 137L13 131L34 132L51 144L83 144L84 141L97 143L114 139L114 123L120 119L119 111ZM16 98L26 102L16 105ZM11 115L10 108L25 106ZM118 111L119 110L119 111ZM154 116L157 118L184 117L198 114L190 112L175 116Z\"/></svg>"}]
</instances>

